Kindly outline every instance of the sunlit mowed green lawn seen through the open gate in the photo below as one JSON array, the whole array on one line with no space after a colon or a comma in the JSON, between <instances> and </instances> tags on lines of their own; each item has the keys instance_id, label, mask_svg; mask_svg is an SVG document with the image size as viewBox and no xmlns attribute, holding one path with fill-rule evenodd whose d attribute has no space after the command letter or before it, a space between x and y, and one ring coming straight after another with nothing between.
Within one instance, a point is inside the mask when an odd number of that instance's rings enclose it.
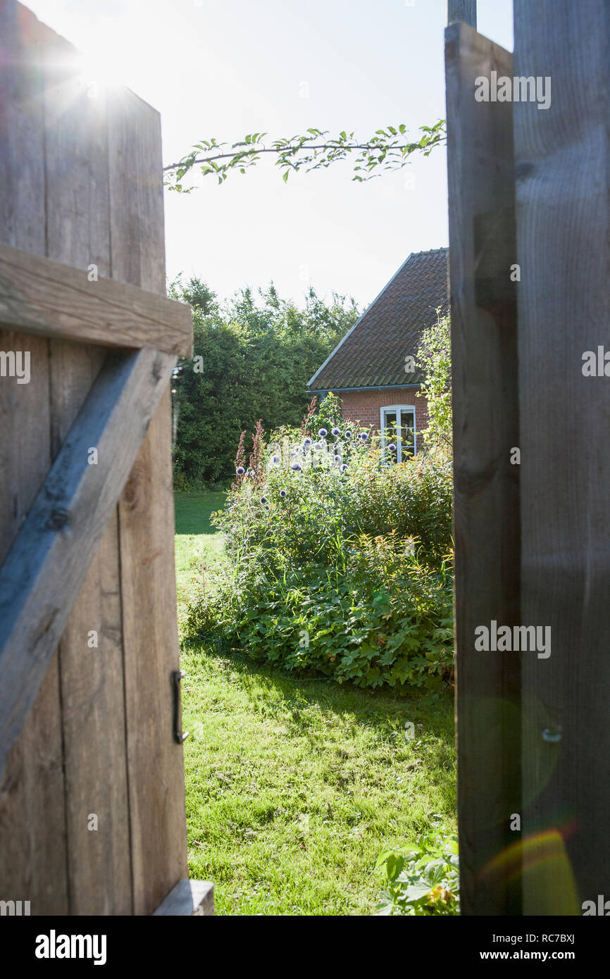
<instances>
[{"instance_id":1,"label":"sunlit mowed green lawn seen through the open gate","mask_svg":"<svg viewBox=\"0 0 610 979\"><path fill-rule=\"evenodd\" d=\"M176 493L187 590L202 561L223 560L209 522L222 498ZM432 816L454 830L448 691L364 692L204 642L183 648L181 666L190 873L213 881L217 914L374 913L380 851Z\"/></svg>"}]
</instances>

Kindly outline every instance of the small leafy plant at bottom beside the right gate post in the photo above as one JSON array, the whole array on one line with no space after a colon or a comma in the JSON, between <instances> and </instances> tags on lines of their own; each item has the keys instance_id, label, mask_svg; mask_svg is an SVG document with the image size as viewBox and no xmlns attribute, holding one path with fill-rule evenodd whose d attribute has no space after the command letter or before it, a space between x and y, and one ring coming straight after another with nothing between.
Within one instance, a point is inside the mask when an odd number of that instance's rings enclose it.
<instances>
[{"instance_id":1,"label":"small leafy plant at bottom beside the right gate post","mask_svg":"<svg viewBox=\"0 0 610 979\"><path fill-rule=\"evenodd\" d=\"M377 861L381 868L387 887L378 914L459 914L457 835L444 836L438 822L417 843L384 851Z\"/></svg>"}]
</instances>

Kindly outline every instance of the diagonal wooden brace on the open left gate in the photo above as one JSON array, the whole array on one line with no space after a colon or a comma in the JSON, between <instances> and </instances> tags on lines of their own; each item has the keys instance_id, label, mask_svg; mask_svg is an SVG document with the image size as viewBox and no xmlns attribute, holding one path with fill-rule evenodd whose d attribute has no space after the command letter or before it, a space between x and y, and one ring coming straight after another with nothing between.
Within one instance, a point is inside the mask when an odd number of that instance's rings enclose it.
<instances>
[{"instance_id":1,"label":"diagonal wooden brace on the open left gate","mask_svg":"<svg viewBox=\"0 0 610 979\"><path fill-rule=\"evenodd\" d=\"M108 354L0 569L0 777L174 363Z\"/></svg>"}]
</instances>

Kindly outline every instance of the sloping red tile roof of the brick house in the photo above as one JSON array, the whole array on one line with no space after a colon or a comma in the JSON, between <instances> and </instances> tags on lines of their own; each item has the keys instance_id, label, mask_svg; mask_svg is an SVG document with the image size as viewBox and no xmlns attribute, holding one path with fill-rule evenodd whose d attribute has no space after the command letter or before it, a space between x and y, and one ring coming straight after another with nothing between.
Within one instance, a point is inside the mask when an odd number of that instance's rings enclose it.
<instances>
[{"instance_id":1,"label":"sloping red tile roof of the brick house","mask_svg":"<svg viewBox=\"0 0 610 979\"><path fill-rule=\"evenodd\" d=\"M404 372L404 358L415 356L422 330L448 312L448 249L416 252L371 303L308 382L310 391L342 388L404 387L419 384L421 373Z\"/></svg>"}]
</instances>

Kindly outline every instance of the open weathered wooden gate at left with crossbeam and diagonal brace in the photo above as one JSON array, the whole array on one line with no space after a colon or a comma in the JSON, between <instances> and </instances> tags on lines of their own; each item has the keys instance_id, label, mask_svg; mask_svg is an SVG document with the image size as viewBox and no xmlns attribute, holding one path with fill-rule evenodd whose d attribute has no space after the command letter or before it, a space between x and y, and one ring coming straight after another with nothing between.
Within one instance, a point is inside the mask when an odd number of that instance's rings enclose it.
<instances>
[{"instance_id":1,"label":"open weathered wooden gate at left with crossbeam and diagonal brace","mask_svg":"<svg viewBox=\"0 0 610 979\"><path fill-rule=\"evenodd\" d=\"M160 117L15 0L0 45L0 899L148 914L187 877Z\"/></svg>"}]
</instances>

